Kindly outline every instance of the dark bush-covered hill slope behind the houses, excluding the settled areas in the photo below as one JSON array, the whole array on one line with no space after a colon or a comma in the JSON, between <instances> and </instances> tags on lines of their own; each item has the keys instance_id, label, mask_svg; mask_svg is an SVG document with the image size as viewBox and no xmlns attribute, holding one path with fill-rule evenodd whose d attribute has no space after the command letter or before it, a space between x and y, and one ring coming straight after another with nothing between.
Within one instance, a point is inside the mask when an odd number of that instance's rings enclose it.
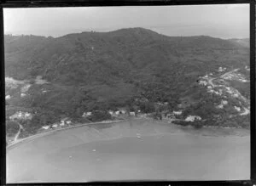
<instances>
[{"instance_id":1,"label":"dark bush-covered hill slope behind the houses, excluding the settled areas","mask_svg":"<svg viewBox=\"0 0 256 186\"><path fill-rule=\"evenodd\" d=\"M143 28L57 38L7 35L5 76L31 83L42 76L49 82L42 86L50 90L41 95L42 87L34 85L27 99L10 99L9 104L67 116L132 106L137 99L169 102L173 107L183 99L193 104L206 92L198 85L200 76L220 76L219 67L239 68L248 76L247 43L207 36L167 37Z\"/></svg>"}]
</instances>

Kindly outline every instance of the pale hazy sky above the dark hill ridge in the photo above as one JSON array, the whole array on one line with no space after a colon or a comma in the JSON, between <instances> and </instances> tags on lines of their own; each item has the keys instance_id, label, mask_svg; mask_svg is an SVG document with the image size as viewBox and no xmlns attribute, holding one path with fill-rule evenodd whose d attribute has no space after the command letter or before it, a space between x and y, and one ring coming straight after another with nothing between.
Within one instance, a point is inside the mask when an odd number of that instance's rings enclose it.
<instances>
[{"instance_id":1,"label":"pale hazy sky above the dark hill ridge","mask_svg":"<svg viewBox=\"0 0 256 186\"><path fill-rule=\"evenodd\" d=\"M4 8L4 32L61 37L143 27L167 36L249 38L249 4Z\"/></svg>"}]
</instances>

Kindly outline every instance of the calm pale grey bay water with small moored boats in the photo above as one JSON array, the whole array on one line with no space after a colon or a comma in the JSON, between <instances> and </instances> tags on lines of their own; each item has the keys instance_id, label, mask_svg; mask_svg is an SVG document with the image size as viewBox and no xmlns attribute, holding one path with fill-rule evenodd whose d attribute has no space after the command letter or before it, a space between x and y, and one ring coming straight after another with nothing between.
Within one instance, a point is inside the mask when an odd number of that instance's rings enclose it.
<instances>
[{"instance_id":1,"label":"calm pale grey bay water with small moored boats","mask_svg":"<svg viewBox=\"0 0 256 186\"><path fill-rule=\"evenodd\" d=\"M152 120L76 127L7 149L7 181L249 179L247 133Z\"/></svg>"}]
</instances>

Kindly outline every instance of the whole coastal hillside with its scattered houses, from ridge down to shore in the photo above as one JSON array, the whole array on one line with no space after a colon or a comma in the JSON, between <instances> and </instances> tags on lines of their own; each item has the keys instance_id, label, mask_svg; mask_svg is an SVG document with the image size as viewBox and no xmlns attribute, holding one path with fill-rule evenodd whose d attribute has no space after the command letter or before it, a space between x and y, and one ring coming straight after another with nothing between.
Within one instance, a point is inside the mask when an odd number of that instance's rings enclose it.
<instances>
[{"instance_id":1,"label":"whole coastal hillside with its scattered houses, from ridge down to shore","mask_svg":"<svg viewBox=\"0 0 256 186\"><path fill-rule=\"evenodd\" d=\"M143 28L56 38L6 35L9 135L20 130L15 122L28 136L65 118L113 120L112 111L122 108L166 117L176 112L181 125L248 128L248 43L167 37Z\"/></svg>"}]
</instances>

